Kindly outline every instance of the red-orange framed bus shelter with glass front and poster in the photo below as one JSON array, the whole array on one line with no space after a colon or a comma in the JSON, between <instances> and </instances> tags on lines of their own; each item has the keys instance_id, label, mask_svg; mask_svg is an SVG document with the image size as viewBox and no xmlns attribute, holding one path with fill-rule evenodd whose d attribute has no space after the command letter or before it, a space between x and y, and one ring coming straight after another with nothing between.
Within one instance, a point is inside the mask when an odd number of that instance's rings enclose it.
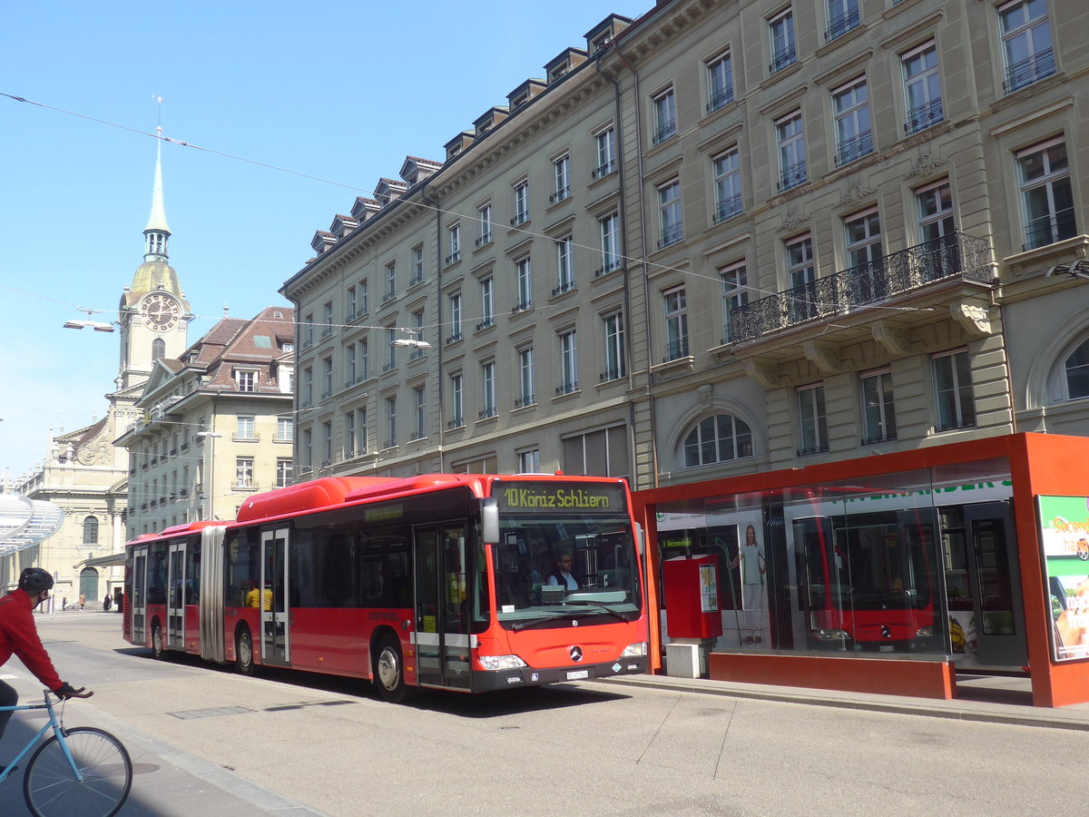
<instances>
[{"instance_id":1,"label":"red-orange framed bus shelter with glass front and poster","mask_svg":"<svg viewBox=\"0 0 1089 817\"><path fill-rule=\"evenodd\" d=\"M1087 462L1015 434L637 491L653 668L696 644L717 680L952 698L958 671L1027 673L1037 706L1089 702Z\"/></svg>"}]
</instances>

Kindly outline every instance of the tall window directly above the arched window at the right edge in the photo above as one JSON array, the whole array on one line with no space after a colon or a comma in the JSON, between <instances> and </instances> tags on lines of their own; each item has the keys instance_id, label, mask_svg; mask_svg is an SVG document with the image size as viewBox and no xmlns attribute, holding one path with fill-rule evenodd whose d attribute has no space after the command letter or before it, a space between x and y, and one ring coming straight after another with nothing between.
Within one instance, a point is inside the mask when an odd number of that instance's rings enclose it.
<instances>
[{"instance_id":1,"label":"tall window directly above the arched window at the right edge","mask_svg":"<svg viewBox=\"0 0 1089 817\"><path fill-rule=\"evenodd\" d=\"M1025 243L1029 251L1077 233L1066 143L1052 139L1017 154Z\"/></svg>"}]
</instances>

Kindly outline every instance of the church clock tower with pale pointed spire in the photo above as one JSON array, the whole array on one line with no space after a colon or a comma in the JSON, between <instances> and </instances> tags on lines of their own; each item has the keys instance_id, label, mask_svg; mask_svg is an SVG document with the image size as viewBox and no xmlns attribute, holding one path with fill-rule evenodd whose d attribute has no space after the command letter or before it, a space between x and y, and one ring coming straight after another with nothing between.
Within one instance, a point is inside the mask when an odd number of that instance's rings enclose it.
<instances>
[{"instance_id":1,"label":"church clock tower with pale pointed spire","mask_svg":"<svg viewBox=\"0 0 1089 817\"><path fill-rule=\"evenodd\" d=\"M155 157L155 186L151 215L144 228L144 263L121 295L121 366L118 393L143 385L160 357L176 358L186 347L186 329L192 319L188 301L170 266L167 245L170 228L162 206L162 143ZM140 387L140 388L136 388Z\"/></svg>"}]
</instances>

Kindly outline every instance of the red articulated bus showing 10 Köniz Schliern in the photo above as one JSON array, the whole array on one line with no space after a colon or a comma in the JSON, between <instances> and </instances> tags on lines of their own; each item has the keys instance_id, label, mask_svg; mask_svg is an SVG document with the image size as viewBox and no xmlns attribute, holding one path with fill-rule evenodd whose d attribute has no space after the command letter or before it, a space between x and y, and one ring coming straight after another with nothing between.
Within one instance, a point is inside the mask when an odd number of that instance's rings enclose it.
<instances>
[{"instance_id":1,"label":"red articulated bus showing 10 K\u00f6niz Schliern","mask_svg":"<svg viewBox=\"0 0 1089 817\"><path fill-rule=\"evenodd\" d=\"M130 542L123 632L247 674L370 679L394 702L645 672L637 546L619 479L325 477Z\"/></svg>"}]
</instances>

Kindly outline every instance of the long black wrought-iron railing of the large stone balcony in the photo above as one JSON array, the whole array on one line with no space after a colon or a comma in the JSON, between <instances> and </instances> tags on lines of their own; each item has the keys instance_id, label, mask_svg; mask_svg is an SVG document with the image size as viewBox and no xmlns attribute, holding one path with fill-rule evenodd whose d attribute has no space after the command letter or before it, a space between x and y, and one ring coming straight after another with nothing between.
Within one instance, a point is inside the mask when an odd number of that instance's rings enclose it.
<instances>
[{"instance_id":1,"label":"long black wrought-iron railing of the large stone balcony","mask_svg":"<svg viewBox=\"0 0 1089 817\"><path fill-rule=\"evenodd\" d=\"M827 319L905 294L934 281L990 282L986 239L954 233L869 264L804 283L730 310L735 343L748 343L816 318Z\"/></svg>"}]
</instances>

